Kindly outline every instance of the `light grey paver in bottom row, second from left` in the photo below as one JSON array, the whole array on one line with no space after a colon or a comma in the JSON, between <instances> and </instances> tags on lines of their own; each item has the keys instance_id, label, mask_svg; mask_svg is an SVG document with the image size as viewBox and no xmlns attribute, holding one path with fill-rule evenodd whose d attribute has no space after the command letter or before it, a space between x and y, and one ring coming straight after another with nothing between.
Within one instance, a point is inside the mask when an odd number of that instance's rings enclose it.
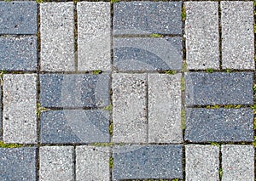
<instances>
[{"instance_id":1,"label":"light grey paver in bottom row, second from left","mask_svg":"<svg viewBox=\"0 0 256 181\"><path fill-rule=\"evenodd\" d=\"M74 180L73 146L43 146L39 157L39 180Z\"/></svg>"}]
</instances>

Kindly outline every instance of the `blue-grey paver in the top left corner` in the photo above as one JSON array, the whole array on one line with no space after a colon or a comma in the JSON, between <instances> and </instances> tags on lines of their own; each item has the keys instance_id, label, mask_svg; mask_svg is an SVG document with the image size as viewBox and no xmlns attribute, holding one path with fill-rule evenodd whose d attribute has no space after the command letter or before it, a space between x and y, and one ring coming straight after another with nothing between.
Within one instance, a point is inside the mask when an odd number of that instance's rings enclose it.
<instances>
[{"instance_id":1,"label":"blue-grey paver in the top left corner","mask_svg":"<svg viewBox=\"0 0 256 181\"><path fill-rule=\"evenodd\" d=\"M36 2L0 2L0 34L38 32L38 5Z\"/></svg>"}]
</instances>

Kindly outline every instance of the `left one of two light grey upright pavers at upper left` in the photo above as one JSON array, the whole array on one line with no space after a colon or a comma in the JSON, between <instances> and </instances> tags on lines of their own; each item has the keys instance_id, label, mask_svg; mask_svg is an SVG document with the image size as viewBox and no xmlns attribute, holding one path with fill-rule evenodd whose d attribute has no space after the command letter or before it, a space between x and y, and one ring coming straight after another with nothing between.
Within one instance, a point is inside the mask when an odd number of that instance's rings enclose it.
<instances>
[{"instance_id":1,"label":"left one of two light grey upright pavers at upper left","mask_svg":"<svg viewBox=\"0 0 256 181\"><path fill-rule=\"evenodd\" d=\"M41 71L75 71L73 2L40 4Z\"/></svg>"}]
</instances>

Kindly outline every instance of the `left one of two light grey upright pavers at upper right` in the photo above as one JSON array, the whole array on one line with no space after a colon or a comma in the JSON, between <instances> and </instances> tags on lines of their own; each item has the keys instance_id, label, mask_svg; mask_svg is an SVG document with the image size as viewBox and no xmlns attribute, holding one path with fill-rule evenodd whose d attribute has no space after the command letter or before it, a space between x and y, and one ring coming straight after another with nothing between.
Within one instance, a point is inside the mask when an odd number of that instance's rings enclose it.
<instances>
[{"instance_id":1,"label":"left one of two light grey upright pavers at upper right","mask_svg":"<svg viewBox=\"0 0 256 181\"><path fill-rule=\"evenodd\" d=\"M219 69L218 2L186 2L186 60L189 69Z\"/></svg>"}]
</instances>

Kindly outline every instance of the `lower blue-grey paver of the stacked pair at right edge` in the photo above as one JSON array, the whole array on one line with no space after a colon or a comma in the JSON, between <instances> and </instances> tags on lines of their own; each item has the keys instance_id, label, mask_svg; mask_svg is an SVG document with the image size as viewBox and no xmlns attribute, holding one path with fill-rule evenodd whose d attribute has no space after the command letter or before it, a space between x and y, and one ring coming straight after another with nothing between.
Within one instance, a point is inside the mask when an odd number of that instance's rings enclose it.
<instances>
[{"instance_id":1,"label":"lower blue-grey paver of the stacked pair at right edge","mask_svg":"<svg viewBox=\"0 0 256 181\"><path fill-rule=\"evenodd\" d=\"M189 142L253 141L253 110L187 109L185 140Z\"/></svg>"}]
</instances>

